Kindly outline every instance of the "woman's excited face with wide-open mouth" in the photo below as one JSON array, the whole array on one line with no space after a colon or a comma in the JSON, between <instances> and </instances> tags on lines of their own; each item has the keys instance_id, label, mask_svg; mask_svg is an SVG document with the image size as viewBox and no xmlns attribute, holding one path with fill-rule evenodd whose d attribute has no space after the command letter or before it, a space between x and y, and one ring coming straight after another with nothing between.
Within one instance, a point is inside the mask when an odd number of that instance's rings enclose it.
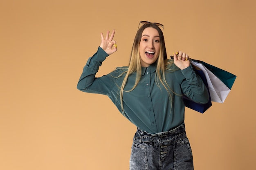
<instances>
[{"instance_id":1,"label":"woman's excited face with wide-open mouth","mask_svg":"<svg viewBox=\"0 0 256 170\"><path fill-rule=\"evenodd\" d=\"M160 37L156 29L148 27L144 29L139 43L140 63L142 67L148 67L159 57Z\"/></svg>"}]
</instances>

